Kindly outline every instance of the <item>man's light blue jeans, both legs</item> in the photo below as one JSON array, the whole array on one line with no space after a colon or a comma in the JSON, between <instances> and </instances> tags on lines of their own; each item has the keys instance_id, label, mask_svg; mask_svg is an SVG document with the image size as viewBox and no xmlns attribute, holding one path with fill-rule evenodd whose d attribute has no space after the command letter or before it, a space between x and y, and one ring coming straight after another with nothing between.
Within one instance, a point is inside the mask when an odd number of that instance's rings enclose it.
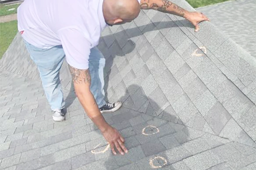
<instances>
[{"instance_id":1,"label":"man's light blue jeans, both legs","mask_svg":"<svg viewBox=\"0 0 256 170\"><path fill-rule=\"evenodd\" d=\"M35 62L40 73L44 92L53 111L65 107L61 89L59 72L65 58L62 45L49 49L35 47L24 41L31 59ZM105 58L97 47L90 51L89 70L91 76L90 91L99 108L105 105L104 74Z\"/></svg>"}]
</instances>

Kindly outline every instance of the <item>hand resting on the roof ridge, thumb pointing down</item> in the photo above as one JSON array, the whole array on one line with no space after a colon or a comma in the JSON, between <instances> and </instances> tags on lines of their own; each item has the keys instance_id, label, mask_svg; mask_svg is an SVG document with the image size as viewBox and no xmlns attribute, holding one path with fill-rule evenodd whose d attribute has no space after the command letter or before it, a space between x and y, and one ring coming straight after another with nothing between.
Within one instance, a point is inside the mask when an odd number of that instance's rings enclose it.
<instances>
[{"instance_id":1,"label":"hand resting on the roof ridge, thumb pointing down","mask_svg":"<svg viewBox=\"0 0 256 170\"><path fill-rule=\"evenodd\" d=\"M186 16L186 19L195 26L195 32L199 30L199 23L202 21L210 21L209 18L207 18L207 16L201 12L189 12L189 14Z\"/></svg>"}]
</instances>

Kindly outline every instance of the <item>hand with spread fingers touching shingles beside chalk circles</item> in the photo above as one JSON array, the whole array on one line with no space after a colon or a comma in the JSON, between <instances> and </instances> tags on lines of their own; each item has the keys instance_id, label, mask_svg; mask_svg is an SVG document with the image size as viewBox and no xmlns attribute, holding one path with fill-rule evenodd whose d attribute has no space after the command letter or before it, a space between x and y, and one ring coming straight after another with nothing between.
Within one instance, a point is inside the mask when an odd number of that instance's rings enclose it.
<instances>
[{"instance_id":1,"label":"hand with spread fingers touching shingles beside chalk circles","mask_svg":"<svg viewBox=\"0 0 256 170\"><path fill-rule=\"evenodd\" d=\"M125 139L121 136L121 134L113 127L109 126L104 132L102 132L106 141L110 144L111 150L113 154L116 155L115 147L119 151L121 155L128 153L128 150L125 147Z\"/></svg>"}]
</instances>

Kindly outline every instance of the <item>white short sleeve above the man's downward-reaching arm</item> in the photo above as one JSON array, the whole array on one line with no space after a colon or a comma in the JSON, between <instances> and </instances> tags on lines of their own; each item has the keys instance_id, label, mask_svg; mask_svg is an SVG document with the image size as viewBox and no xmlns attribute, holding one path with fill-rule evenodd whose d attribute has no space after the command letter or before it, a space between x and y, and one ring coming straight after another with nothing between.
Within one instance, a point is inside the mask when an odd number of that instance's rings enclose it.
<instances>
[{"instance_id":1,"label":"white short sleeve above the man's downward-reaching arm","mask_svg":"<svg viewBox=\"0 0 256 170\"><path fill-rule=\"evenodd\" d=\"M76 28L64 28L58 31L66 60L78 69L89 68L90 42Z\"/></svg>"}]
</instances>

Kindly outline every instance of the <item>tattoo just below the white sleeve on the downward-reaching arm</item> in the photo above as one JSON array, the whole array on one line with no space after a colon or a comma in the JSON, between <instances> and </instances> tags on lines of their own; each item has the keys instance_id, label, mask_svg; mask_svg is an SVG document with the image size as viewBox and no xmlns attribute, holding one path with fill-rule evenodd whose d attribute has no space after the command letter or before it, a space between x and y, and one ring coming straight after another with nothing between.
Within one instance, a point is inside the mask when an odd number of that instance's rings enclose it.
<instances>
[{"instance_id":1,"label":"tattoo just below the white sleeve on the downward-reaching arm","mask_svg":"<svg viewBox=\"0 0 256 170\"><path fill-rule=\"evenodd\" d=\"M78 68L73 68L70 65L69 69L74 83L82 84L91 82L89 69L81 70Z\"/></svg>"}]
</instances>

